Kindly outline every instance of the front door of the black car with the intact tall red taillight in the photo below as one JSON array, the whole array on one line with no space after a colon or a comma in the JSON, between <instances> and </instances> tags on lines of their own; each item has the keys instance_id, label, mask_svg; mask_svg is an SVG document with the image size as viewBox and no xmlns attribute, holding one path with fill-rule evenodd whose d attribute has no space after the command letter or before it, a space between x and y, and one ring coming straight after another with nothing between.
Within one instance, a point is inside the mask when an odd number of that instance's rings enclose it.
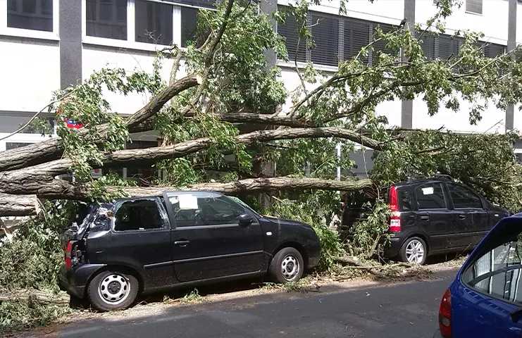
<instances>
[{"instance_id":1,"label":"front door of the black car with the intact tall red taillight","mask_svg":"<svg viewBox=\"0 0 522 338\"><path fill-rule=\"evenodd\" d=\"M482 199L463 184L447 183L454 208L454 246L473 249L489 230Z\"/></svg>"}]
</instances>

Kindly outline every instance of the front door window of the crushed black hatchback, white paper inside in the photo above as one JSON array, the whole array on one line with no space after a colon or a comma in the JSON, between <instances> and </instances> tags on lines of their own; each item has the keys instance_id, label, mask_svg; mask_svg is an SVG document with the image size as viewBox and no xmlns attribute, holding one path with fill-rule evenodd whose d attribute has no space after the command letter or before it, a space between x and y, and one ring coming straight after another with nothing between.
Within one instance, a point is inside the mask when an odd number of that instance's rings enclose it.
<instances>
[{"instance_id":1,"label":"front door window of the crushed black hatchback, white paper inside","mask_svg":"<svg viewBox=\"0 0 522 338\"><path fill-rule=\"evenodd\" d=\"M176 226L235 224L244 208L219 194L187 193L170 196Z\"/></svg>"}]
</instances>

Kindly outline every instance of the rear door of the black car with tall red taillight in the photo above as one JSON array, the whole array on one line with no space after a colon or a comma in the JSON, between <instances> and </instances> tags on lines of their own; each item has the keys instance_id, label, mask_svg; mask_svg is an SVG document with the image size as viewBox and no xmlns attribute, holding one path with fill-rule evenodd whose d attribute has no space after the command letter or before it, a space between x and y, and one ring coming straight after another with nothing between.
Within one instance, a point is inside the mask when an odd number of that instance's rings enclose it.
<instances>
[{"instance_id":1,"label":"rear door of the black car with tall red taillight","mask_svg":"<svg viewBox=\"0 0 522 338\"><path fill-rule=\"evenodd\" d=\"M440 182L421 184L415 188L418 212L416 224L430 240L430 250L446 249L449 223L452 220L447 196Z\"/></svg>"}]
</instances>

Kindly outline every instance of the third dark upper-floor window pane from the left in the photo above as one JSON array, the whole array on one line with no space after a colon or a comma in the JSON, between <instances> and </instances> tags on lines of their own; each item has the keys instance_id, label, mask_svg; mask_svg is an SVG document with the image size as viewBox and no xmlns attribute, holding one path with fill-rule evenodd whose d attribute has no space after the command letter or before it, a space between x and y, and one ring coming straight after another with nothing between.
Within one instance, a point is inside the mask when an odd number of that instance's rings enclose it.
<instances>
[{"instance_id":1,"label":"third dark upper-floor window pane from the left","mask_svg":"<svg viewBox=\"0 0 522 338\"><path fill-rule=\"evenodd\" d=\"M173 40L173 6L136 0L136 41L168 45Z\"/></svg>"}]
</instances>

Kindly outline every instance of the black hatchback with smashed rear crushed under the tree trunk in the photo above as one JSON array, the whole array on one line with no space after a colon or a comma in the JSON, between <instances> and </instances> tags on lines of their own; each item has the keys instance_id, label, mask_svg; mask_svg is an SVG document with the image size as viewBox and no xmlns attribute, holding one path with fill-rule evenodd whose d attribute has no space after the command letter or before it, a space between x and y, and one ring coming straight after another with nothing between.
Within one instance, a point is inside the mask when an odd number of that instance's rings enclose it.
<instances>
[{"instance_id":1,"label":"black hatchback with smashed rear crushed under the tree trunk","mask_svg":"<svg viewBox=\"0 0 522 338\"><path fill-rule=\"evenodd\" d=\"M310 225L261 216L216 192L164 192L91 206L69 232L60 285L110 311L173 287L267 273L297 281L320 254Z\"/></svg>"}]
</instances>

